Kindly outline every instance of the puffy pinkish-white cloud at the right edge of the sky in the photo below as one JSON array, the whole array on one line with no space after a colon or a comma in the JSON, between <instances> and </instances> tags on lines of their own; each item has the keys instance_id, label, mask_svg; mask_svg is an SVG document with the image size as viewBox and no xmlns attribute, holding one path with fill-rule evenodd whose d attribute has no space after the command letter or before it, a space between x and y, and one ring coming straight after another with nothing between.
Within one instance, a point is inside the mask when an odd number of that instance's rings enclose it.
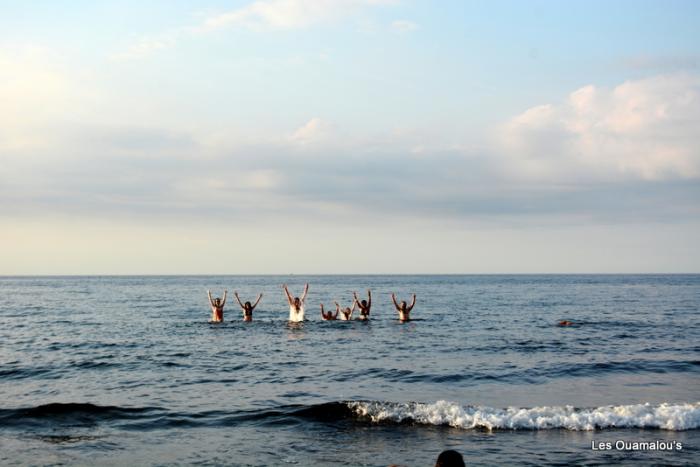
<instances>
[{"instance_id":1,"label":"puffy pinkish-white cloud at the right edge of the sky","mask_svg":"<svg viewBox=\"0 0 700 467\"><path fill-rule=\"evenodd\" d=\"M700 78L665 75L584 86L503 128L510 170L528 178L700 177Z\"/></svg>"}]
</instances>

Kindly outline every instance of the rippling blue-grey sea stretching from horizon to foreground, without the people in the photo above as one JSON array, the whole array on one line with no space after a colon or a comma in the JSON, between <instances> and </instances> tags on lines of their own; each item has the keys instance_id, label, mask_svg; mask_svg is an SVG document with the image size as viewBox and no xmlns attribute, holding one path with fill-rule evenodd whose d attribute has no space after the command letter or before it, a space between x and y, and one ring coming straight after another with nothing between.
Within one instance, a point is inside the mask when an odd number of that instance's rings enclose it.
<instances>
[{"instance_id":1,"label":"rippling blue-grey sea stretching from horizon to foreground, without the people","mask_svg":"<svg viewBox=\"0 0 700 467\"><path fill-rule=\"evenodd\" d=\"M4 277L0 464L698 465L699 317L700 275Z\"/></svg>"}]
</instances>

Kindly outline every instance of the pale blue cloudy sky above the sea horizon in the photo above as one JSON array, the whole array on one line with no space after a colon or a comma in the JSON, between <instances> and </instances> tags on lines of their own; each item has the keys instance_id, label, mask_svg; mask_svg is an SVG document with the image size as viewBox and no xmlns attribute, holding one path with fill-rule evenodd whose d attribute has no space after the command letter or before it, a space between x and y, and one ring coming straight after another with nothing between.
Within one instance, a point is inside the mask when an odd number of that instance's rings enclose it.
<instances>
[{"instance_id":1,"label":"pale blue cloudy sky above the sea horizon","mask_svg":"<svg viewBox=\"0 0 700 467\"><path fill-rule=\"evenodd\" d=\"M698 24L0 0L0 275L700 272Z\"/></svg>"}]
</instances>

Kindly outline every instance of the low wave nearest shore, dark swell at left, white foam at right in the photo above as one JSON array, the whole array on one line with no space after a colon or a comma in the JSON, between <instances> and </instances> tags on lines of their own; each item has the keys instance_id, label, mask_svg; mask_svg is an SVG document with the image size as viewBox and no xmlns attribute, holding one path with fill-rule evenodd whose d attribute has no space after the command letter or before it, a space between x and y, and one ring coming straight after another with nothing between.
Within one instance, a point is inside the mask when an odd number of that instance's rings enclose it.
<instances>
[{"instance_id":1,"label":"low wave nearest shore, dark swell at left, white foam at right","mask_svg":"<svg viewBox=\"0 0 700 467\"><path fill-rule=\"evenodd\" d=\"M700 428L700 402L636 404L576 408L573 406L508 407L460 405L454 402L342 401L285 405L245 411L181 412L158 407L114 407L88 403L53 403L0 409L0 428L93 427L149 431L154 429L279 426L298 423L449 426L463 430L603 430L643 428L670 431Z\"/></svg>"}]
</instances>

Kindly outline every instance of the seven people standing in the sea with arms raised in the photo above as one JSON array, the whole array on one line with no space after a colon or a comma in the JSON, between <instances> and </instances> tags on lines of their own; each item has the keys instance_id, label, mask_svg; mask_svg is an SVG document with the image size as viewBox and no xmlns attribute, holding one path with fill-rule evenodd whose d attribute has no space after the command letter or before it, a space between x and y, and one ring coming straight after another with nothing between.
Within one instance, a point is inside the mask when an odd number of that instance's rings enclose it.
<instances>
[{"instance_id":1,"label":"seven people standing in the sea with arms raised","mask_svg":"<svg viewBox=\"0 0 700 467\"><path fill-rule=\"evenodd\" d=\"M287 302L289 303L289 321L294 323L304 321L304 306L306 302L306 296L309 293L309 284L306 284L304 286L304 292L301 294L301 297L292 297L292 294L289 293L289 289L287 288L286 284L282 286L282 289L284 290L284 293L287 297ZM228 291L224 290L224 295L222 298L212 298L211 290L207 290L209 304L211 305L212 322L220 323L224 320L224 305L226 305L227 295ZM238 292L234 292L233 295L236 297L236 301L238 302L238 305L243 311L243 321L253 321L253 310L255 310L255 307L258 306L258 304L260 303L260 300L262 299L262 293L258 295L258 298L255 300L255 303L243 303L241 301L241 298L238 296ZM359 317L357 319L360 321L369 320L369 314L372 308L372 291L367 290L367 300L360 299L357 296L357 292L353 292L352 295L353 301L351 306L343 308L338 302L334 302L335 313L332 309L326 311L326 309L323 306L323 303L321 303L321 318L324 321L335 321L339 318L340 321L350 321L352 320L352 315L355 312L355 309L359 308ZM393 293L391 294L391 301L394 303L394 307L396 308L396 311L399 314L399 321L410 321L411 310L413 310L413 307L416 305L416 294L413 294L413 300L411 301L410 305L405 301L398 302L396 300L396 295Z\"/></svg>"}]
</instances>

